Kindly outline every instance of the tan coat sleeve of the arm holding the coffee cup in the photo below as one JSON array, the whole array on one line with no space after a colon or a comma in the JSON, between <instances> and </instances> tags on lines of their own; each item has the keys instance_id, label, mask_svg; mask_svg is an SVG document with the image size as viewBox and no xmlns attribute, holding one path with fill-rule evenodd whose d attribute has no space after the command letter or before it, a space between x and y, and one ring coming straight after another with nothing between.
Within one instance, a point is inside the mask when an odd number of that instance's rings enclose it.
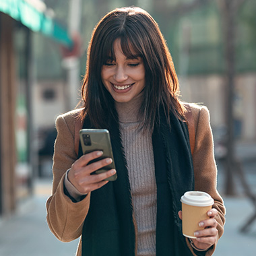
<instances>
[{"instance_id":1,"label":"tan coat sleeve of the arm holding the coffee cup","mask_svg":"<svg viewBox=\"0 0 256 256\"><path fill-rule=\"evenodd\" d=\"M195 148L193 151L193 166L195 174L195 190L204 191L214 199L213 207L218 210L218 238L224 232L225 207L222 197L217 191L217 167L214 159L214 140L210 127L210 115L205 106L192 107L195 125ZM191 245L187 241L191 251ZM206 256L214 253L216 244L207 251ZM196 255L196 254L194 254Z\"/></svg>"}]
</instances>

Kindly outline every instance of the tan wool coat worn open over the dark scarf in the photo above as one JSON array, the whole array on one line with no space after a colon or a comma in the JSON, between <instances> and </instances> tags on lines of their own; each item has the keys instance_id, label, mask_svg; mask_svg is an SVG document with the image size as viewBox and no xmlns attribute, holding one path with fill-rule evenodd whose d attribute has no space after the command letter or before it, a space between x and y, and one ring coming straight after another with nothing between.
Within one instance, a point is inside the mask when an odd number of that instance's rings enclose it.
<instances>
[{"instance_id":1,"label":"tan wool coat worn open over the dark scarf","mask_svg":"<svg viewBox=\"0 0 256 256\"><path fill-rule=\"evenodd\" d=\"M224 232L225 207L218 191L216 190L216 163L214 160L214 143L212 129L210 127L210 115L205 106L190 104L194 120L195 145L193 150L193 166L195 177L195 190L205 191L214 198L214 208L218 210L216 218L218 222L218 238ZM81 111L72 110L57 117L57 139L55 141L55 154L53 156L53 194L46 202L47 222L55 236L63 242L73 241L80 237L77 248L77 256L82 255L81 235L84 219L90 207L90 193L76 203L64 193L64 179L66 171L77 160L75 152L75 117ZM189 123L189 125L192 125ZM191 134L190 134L191 136ZM118 170L117 170L118 172ZM177 213L178 214L178 213ZM193 249L187 240L187 246ZM206 255L214 253L213 249L207 251Z\"/></svg>"}]
</instances>

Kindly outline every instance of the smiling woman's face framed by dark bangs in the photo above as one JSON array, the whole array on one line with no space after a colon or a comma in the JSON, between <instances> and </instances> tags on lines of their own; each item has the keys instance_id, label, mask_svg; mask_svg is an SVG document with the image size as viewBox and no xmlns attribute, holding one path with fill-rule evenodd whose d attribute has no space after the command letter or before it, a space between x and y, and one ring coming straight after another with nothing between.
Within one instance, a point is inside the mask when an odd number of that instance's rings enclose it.
<instances>
[{"instance_id":1,"label":"smiling woman's face framed by dark bangs","mask_svg":"<svg viewBox=\"0 0 256 256\"><path fill-rule=\"evenodd\" d=\"M114 43L115 61L109 60L101 70L102 82L117 102L129 102L145 87L145 67L141 57L127 59L120 40Z\"/></svg>"}]
</instances>

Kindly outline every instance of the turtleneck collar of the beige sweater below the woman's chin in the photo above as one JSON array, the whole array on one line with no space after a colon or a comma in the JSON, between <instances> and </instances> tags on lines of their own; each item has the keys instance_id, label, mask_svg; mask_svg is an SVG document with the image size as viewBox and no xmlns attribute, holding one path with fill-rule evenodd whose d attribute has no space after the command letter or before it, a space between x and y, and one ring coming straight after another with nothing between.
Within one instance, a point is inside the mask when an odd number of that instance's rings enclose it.
<instances>
[{"instance_id":1,"label":"turtleneck collar of the beige sweater below the woman's chin","mask_svg":"<svg viewBox=\"0 0 256 256\"><path fill-rule=\"evenodd\" d=\"M139 108L143 100L143 93L130 100L129 102L115 102L120 123L139 122Z\"/></svg>"}]
</instances>

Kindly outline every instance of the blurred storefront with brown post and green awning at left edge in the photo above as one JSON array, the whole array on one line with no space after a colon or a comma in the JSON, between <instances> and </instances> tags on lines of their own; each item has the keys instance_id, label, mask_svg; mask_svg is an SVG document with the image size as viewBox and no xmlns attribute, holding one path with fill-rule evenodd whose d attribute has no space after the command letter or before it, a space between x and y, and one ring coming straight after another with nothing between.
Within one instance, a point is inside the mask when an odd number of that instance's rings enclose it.
<instances>
[{"instance_id":1,"label":"blurred storefront with brown post and green awning at left edge","mask_svg":"<svg viewBox=\"0 0 256 256\"><path fill-rule=\"evenodd\" d=\"M65 28L39 0L0 1L0 216L32 192L35 85L32 33L72 46Z\"/></svg>"}]
</instances>

